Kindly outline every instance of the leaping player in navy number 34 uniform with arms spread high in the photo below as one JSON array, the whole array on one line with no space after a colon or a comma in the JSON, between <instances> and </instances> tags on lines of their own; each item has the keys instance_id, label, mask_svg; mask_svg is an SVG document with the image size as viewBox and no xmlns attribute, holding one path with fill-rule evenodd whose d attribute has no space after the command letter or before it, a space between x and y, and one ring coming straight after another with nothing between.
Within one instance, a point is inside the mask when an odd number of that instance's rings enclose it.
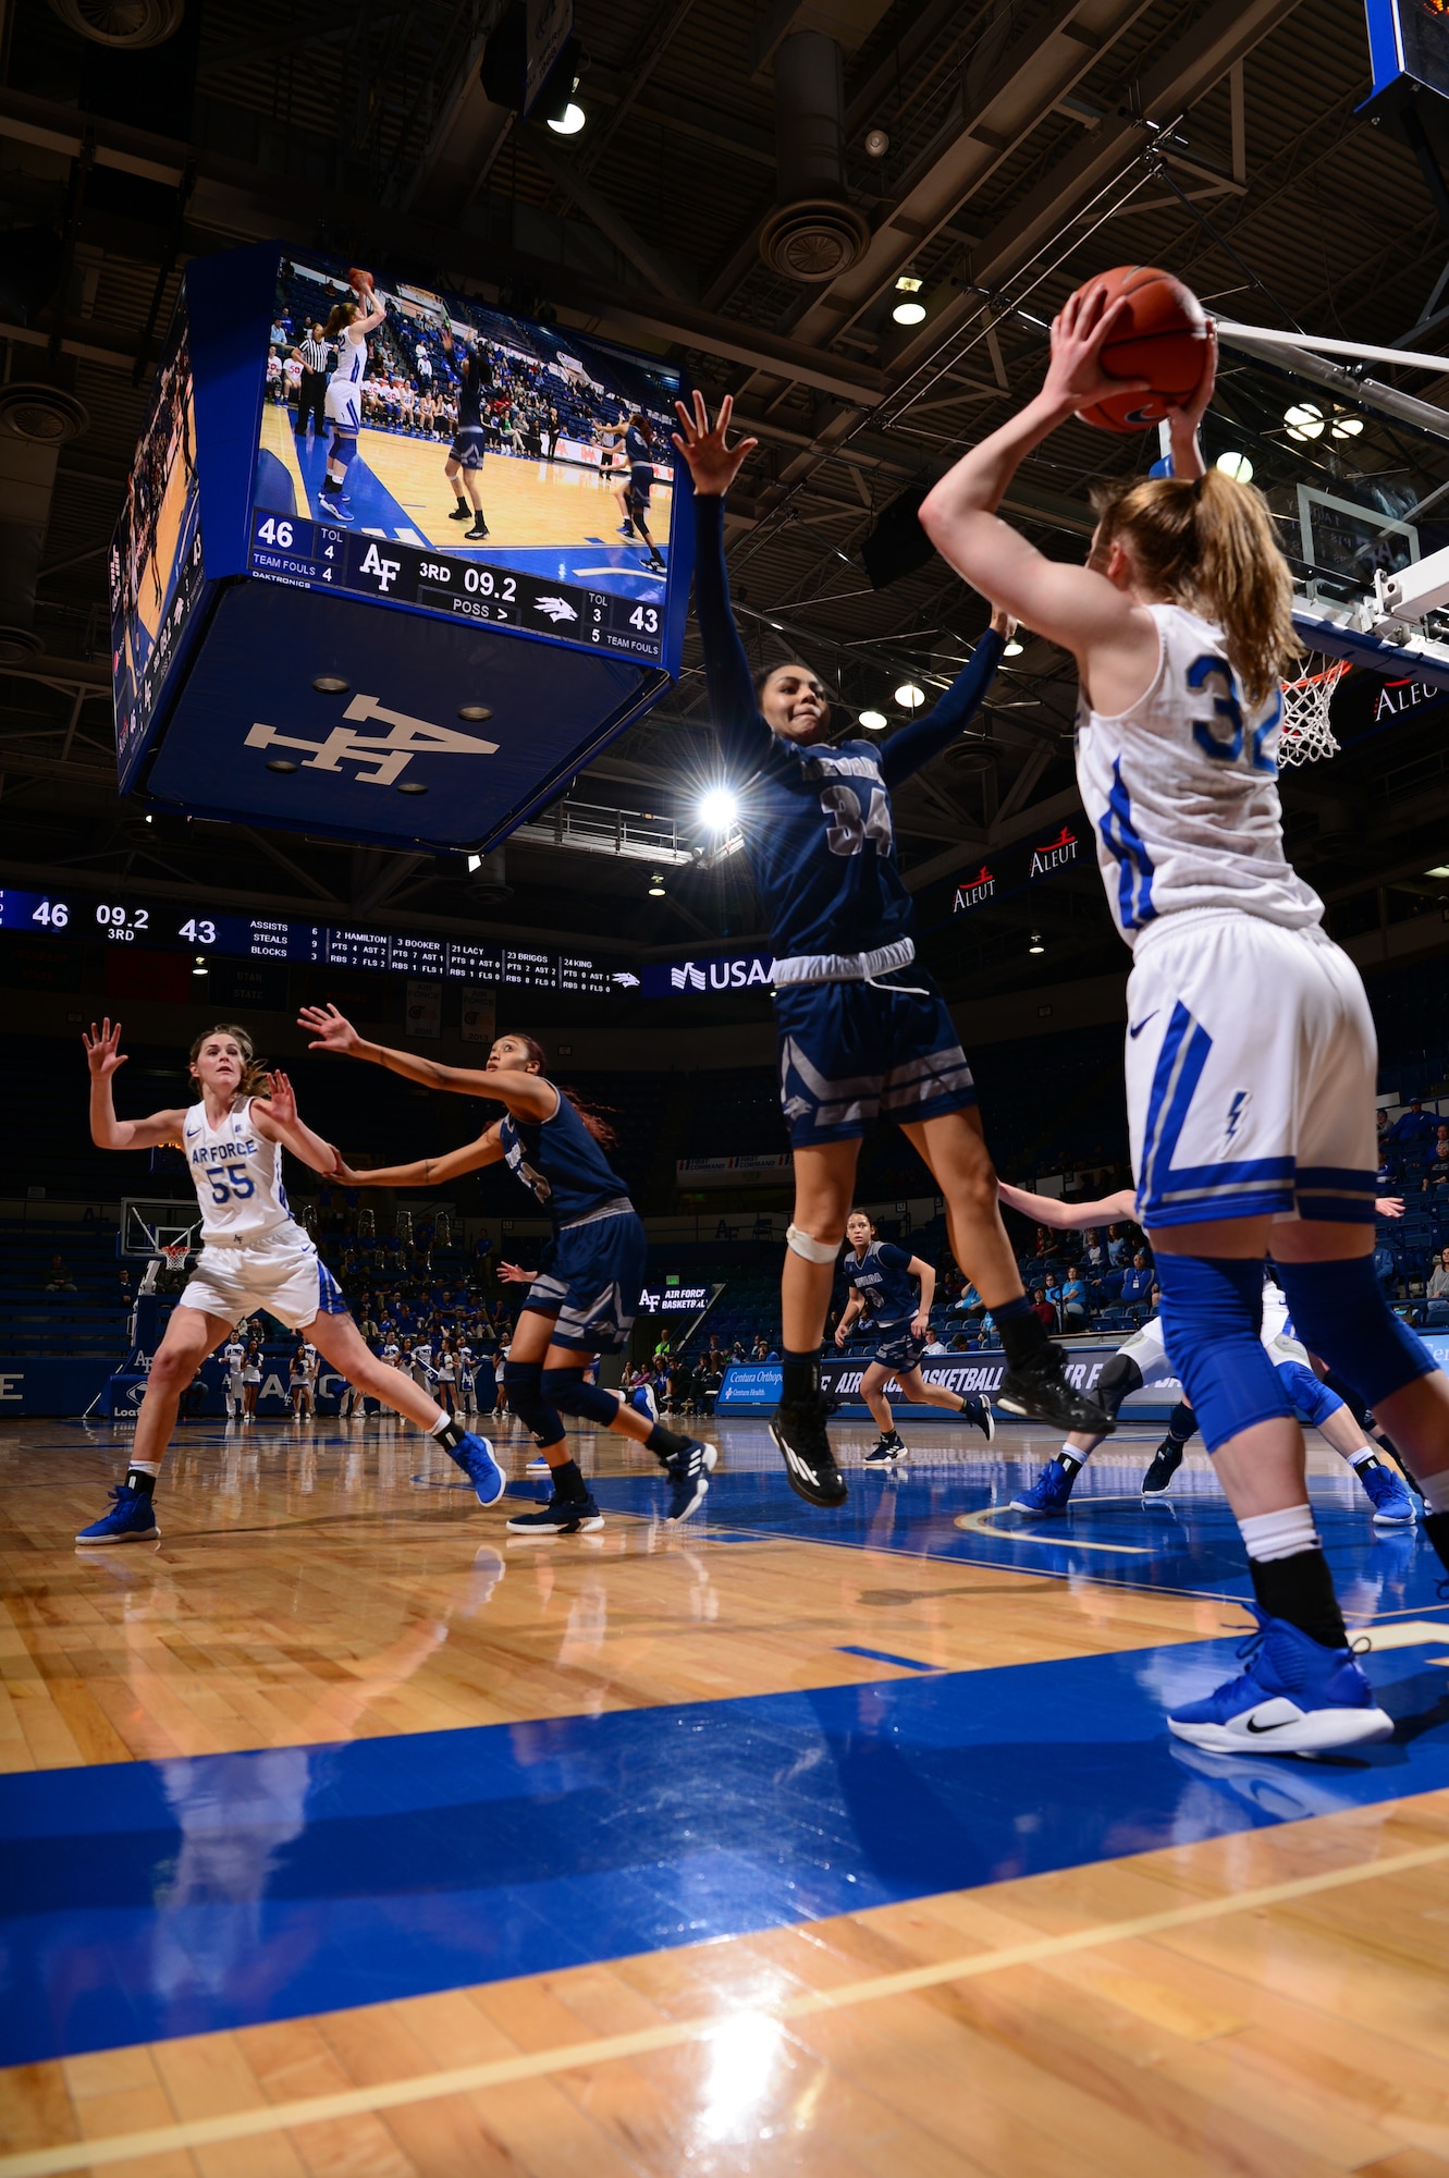
<instances>
[{"instance_id":1,"label":"leaping player in navy number 34 uniform with arms spread high","mask_svg":"<svg viewBox=\"0 0 1449 2178\"><path fill-rule=\"evenodd\" d=\"M844 1477L825 1427L820 1342L835 1257L855 1194L859 1143L886 1111L925 1159L946 1202L951 1250L990 1307L1005 1350L999 1405L1062 1429L1112 1422L1062 1374L1062 1353L1031 1313L996 1211L977 1091L951 1015L916 965L912 897L896 867L890 791L955 741L1001 658L996 616L977 653L925 719L883 747L831 743L825 684L805 664L751 680L729 610L725 492L755 440L729 444L701 394L679 403L674 444L694 475L694 605L714 730L740 791L755 889L775 947L781 1104L794 1148L794 1218L781 1281L783 1379L770 1422L790 1488L842 1505Z\"/></svg>"}]
</instances>

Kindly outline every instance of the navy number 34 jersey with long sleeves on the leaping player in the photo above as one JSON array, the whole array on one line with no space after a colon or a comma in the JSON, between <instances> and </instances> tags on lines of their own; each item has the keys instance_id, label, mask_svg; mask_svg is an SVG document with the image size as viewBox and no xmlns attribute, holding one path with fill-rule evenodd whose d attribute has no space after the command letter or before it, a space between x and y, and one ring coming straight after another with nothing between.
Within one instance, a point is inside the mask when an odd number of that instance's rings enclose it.
<instances>
[{"instance_id":1,"label":"navy number 34 jersey with long sleeves on the leaping player","mask_svg":"<svg viewBox=\"0 0 1449 2178\"><path fill-rule=\"evenodd\" d=\"M936 710L886 743L801 747L772 734L729 610L725 501L694 499L694 608L709 710L742 799L744 845L777 958L862 954L909 937L890 788L944 749L979 708L1001 660L988 629Z\"/></svg>"}]
</instances>

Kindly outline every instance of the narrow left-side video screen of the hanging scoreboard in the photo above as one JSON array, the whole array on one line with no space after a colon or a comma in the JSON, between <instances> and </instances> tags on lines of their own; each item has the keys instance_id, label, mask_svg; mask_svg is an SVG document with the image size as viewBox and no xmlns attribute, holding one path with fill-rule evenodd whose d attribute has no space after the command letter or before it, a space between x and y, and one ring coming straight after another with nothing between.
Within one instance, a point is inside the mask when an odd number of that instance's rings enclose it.
<instances>
[{"instance_id":1,"label":"narrow left-side video screen of the hanging scoreboard","mask_svg":"<svg viewBox=\"0 0 1449 2178\"><path fill-rule=\"evenodd\" d=\"M176 307L152 379L126 503L111 538L109 577L115 762L124 791L202 588L185 303Z\"/></svg>"}]
</instances>

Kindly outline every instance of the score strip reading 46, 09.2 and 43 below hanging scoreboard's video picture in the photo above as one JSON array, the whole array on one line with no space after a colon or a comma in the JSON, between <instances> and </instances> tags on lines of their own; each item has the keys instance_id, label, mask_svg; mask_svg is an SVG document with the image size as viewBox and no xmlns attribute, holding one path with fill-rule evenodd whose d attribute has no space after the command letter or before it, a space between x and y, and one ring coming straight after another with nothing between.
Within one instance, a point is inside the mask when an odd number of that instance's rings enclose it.
<instances>
[{"instance_id":1,"label":"score strip reading 46, 09.2 and 43 below hanging scoreboard's video picture","mask_svg":"<svg viewBox=\"0 0 1449 2178\"><path fill-rule=\"evenodd\" d=\"M614 597L570 582L544 582L485 560L418 551L392 538L335 529L298 514L252 514L252 575L342 590L446 619L518 627L574 649L657 662L664 656L659 599Z\"/></svg>"}]
</instances>

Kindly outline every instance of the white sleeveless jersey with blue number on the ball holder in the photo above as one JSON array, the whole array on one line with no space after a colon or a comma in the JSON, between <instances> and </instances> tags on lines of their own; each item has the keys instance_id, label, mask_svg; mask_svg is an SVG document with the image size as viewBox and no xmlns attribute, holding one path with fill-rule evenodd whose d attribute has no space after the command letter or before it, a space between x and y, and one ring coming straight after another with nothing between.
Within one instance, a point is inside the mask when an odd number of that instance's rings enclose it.
<instances>
[{"instance_id":1,"label":"white sleeveless jersey with blue number on the ball holder","mask_svg":"<svg viewBox=\"0 0 1449 2178\"><path fill-rule=\"evenodd\" d=\"M1116 719L1077 703L1077 786L1129 945L1160 915L1238 908L1288 930L1323 902L1284 856L1277 799L1281 697L1247 703L1221 627L1149 605L1157 673Z\"/></svg>"}]
</instances>

